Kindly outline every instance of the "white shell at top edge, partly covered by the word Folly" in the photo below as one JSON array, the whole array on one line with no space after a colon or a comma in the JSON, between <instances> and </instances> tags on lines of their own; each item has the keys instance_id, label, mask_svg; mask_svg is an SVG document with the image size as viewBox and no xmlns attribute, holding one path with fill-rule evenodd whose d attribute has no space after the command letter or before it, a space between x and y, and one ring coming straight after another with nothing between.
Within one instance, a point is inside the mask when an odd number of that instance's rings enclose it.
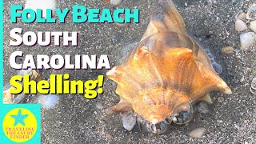
<instances>
[{"instance_id":1,"label":"white shell at top edge, partly covered by the word Folly","mask_svg":"<svg viewBox=\"0 0 256 144\"><path fill-rule=\"evenodd\" d=\"M37 9L42 9L42 17L46 17L46 9L55 10L56 0L26 0L25 9L32 9L37 11Z\"/></svg>"}]
</instances>

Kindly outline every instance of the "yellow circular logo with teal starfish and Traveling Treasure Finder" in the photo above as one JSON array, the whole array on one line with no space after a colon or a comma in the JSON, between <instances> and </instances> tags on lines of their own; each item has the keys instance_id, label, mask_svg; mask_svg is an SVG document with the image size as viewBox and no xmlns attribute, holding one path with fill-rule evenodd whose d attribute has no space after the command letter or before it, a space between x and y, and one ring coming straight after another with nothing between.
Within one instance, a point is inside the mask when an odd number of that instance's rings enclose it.
<instances>
[{"instance_id":1,"label":"yellow circular logo with teal starfish and Traveling Treasure Finder","mask_svg":"<svg viewBox=\"0 0 256 144\"><path fill-rule=\"evenodd\" d=\"M37 131L37 120L30 110L15 108L3 118L2 129L13 142L26 142Z\"/></svg>"}]
</instances>

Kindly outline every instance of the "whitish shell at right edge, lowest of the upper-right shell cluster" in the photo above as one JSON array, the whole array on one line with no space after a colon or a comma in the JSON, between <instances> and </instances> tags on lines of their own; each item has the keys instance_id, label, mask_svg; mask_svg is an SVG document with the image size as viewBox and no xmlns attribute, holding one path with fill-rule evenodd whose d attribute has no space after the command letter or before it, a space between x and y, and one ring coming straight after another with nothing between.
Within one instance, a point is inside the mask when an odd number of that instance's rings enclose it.
<instances>
[{"instance_id":1,"label":"whitish shell at right edge, lowest of the upper-right shell cluster","mask_svg":"<svg viewBox=\"0 0 256 144\"><path fill-rule=\"evenodd\" d=\"M240 35L241 50L247 50L251 46L254 46L256 34L254 32L249 32Z\"/></svg>"}]
</instances>

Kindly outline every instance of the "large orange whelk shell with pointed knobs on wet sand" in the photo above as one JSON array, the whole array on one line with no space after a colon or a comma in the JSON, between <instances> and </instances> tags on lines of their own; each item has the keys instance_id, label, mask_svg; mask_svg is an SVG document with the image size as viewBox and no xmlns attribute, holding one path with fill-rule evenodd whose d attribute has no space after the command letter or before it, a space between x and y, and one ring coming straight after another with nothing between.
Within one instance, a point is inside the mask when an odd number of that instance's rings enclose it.
<instances>
[{"instance_id":1,"label":"large orange whelk shell with pointed knobs on wet sand","mask_svg":"<svg viewBox=\"0 0 256 144\"><path fill-rule=\"evenodd\" d=\"M231 94L205 51L186 33L173 2L162 2L162 8L163 17L151 19L126 62L106 74L118 83L121 98L113 110L134 110L151 124L170 118L178 106L209 102L212 90Z\"/></svg>"}]
</instances>

